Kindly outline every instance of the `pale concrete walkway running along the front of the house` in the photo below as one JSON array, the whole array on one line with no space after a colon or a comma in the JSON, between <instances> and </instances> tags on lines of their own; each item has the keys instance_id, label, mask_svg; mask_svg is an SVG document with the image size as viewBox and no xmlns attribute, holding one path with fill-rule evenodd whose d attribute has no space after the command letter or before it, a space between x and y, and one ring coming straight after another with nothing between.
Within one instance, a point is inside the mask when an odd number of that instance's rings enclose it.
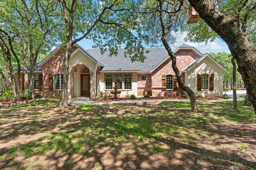
<instances>
[{"instance_id":1,"label":"pale concrete walkway running along the front of the house","mask_svg":"<svg viewBox=\"0 0 256 170\"><path fill-rule=\"evenodd\" d=\"M233 100L233 94L232 90L229 90L231 92L227 92L228 96L231 97L230 99L222 99L222 100L196 100L197 102L225 102L225 101L232 101ZM243 92L237 92L237 100L244 100L244 98L239 97L241 95L246 94L246 90L238 90L238 91L243 91ZM244 94L245 91L245 94ZM166 100L124 100L124 101L104 101L104 102L98 102L94 100L90 100L89 97L78 97L78 98L73 98L71 100L68 100L68 102L72 105L81 105L81 104L130 104L130 103L144 103L144 102L162 102L162 101L167 101L167 102L190 102L189 100L180 100L180 99L166 99Z\"/></svg>"}]
</instances>

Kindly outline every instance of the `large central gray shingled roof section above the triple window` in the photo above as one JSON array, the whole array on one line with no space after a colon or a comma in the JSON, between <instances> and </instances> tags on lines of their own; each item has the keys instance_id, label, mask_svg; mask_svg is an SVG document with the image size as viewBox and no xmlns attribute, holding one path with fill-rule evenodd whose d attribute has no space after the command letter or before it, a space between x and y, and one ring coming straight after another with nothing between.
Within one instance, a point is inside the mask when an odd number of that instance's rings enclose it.
<instances>
[{"instance_id":1,"label":"large central gray shingled roof section above the triple window","mask_svg":"<svg viewBox=\"0 0 256 170\"><path fill-rule=\"evenodd\" d=\"M150 53L145 53L146 59L144 63L135 61L132 62L129 57L124 57L124 49L118 49L118 55L109 56L109 51L101 54L100 49L86 49L98 62L102 63L104 67L102 71L112 70L140 70L141 72L150 72L158 64L164 61L168 57L166 49L145 49Z\"/></svg>"}]
</instances>

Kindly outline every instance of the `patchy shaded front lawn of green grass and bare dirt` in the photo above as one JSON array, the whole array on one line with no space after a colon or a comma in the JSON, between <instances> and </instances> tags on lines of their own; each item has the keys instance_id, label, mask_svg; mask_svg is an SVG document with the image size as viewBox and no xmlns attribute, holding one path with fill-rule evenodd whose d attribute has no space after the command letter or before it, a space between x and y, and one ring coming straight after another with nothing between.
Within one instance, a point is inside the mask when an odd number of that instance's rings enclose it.
<instances>
[{"instance_id":1,"label":"patchy shaded front lawn of green grass and bare dirt","mask_svg":"<svg viewBox=\"0 0 256 170\"><path fill-rule=\"evenodd\" d=\"M37 104L37 103L35 103ZM256 116L232 101L0 108L0 169L256 169Z\"/></svg>"}]
</instances>

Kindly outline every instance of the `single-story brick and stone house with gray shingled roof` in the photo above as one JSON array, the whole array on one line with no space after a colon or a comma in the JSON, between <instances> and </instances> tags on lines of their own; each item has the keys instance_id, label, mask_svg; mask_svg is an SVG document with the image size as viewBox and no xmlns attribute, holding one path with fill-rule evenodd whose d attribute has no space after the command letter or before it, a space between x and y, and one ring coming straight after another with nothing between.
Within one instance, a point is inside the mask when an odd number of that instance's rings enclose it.
<instances>
[{"instance_id":1,"label":"single-story brick and stone house with gray shingled roof","mask_svg":"<svg viewBox=\"0 0 256 170\"><path fill-rule=\"evenodd\" d=\"M166 49L147 50L150 53L146 53L146 59L141 63L125 58L124 49L118 50L117 57L110 57L109 51L101 54L100 49L83 49L75 44L69 61L69 98L112 96L110 92L115 85L119 87L119 96L122 97L132 94L142 96L145 93L152 96L159 93L161 96L184 94L178 86L172 70L172 60ZM36 93L41 93L44 97L61 96L65 52L65 46L60 45L36 64ZM223 94L222 82L224 72L227 71L224 66L210 55L202 55L194 47L185 44L178 47L174 54L177 56L177 66L182 72L183 82L195 94ZM28 73L29 70L30 68ZM22 84L24 87L24 83Z\"/></svg>"}]
</instances>

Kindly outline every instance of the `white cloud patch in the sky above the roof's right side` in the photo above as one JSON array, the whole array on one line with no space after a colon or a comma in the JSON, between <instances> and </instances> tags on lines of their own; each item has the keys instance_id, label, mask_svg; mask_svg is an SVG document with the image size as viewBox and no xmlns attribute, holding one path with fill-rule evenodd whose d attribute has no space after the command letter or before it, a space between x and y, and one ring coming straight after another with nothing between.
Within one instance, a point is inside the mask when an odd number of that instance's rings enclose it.
<instances>
[{"instance_id":1,"label":"white cloud patch in the sky above the roof's right side","mask_svg":"<svg viewBox=\"0 0 256 170\"><path fill-rule=\"evenodd\" d=\"M194 43L191 41L185 41L185 37L187 35L187 33L180 33L180 31L178 32L172 32L172 35L174 37L176 37L176 43L174 43L174 45L172 45L172 48L176 49L178 47L180 47L182 44L186 44L186 45L190 45L192 47L195 47L198 50L218 50L218 49L223 49L223 47L217 42L208 42L207 44L205 44L205 42L202 43Z\"/></svg>"}]
</instances>

